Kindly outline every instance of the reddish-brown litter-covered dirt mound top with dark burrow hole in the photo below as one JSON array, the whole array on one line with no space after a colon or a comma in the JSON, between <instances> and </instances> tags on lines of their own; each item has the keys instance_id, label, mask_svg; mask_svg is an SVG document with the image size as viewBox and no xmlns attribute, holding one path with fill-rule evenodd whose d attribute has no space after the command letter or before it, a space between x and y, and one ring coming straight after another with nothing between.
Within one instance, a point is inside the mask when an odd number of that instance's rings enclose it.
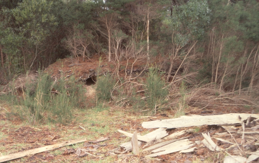
<instances>
[{"instance_id":1,"label":"reddish-brown litter-covered dirt mound top with dark burrow hole","mask_svg":"<svg viewBox=\"0 0 259 163\"><path fill-rule=\"evenodd\" d=\"M105 58L105 57L102 57ZM98 55L83 61L83 57L65 58L50 65L45 72L50 74L51 78L69 78L74 75L76 79L86 82L86 85L94 85L97 75L115 74L118 71L119 77L125 75L139 74L147 70L147 62L134 59L122 60L118 62L108 62L107 59L99 60Z\"/></svg>"}]
</instances>

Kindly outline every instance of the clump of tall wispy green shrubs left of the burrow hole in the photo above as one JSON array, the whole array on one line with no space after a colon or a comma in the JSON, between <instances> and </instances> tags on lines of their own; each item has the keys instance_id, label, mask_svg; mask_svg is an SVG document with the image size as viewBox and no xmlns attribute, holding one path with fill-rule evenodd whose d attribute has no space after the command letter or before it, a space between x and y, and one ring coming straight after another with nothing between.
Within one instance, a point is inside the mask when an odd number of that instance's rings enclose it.
<instances>
[{"instance_id":1,"label":"clump of tall wispy green shrubs left of the burrow hole","mask_svg":"<svg viewBox=\"0 0 259 163\"><path fill-rule=\"evenodd\" d=\"M12 111L32 125L66 124L73 118L73 109L86 106L82 85L74 76L66 79L61 75L53 82L48 74L39 71L34 80L27 74L18 86L12 82L11 92L1 95L1 100L19 105Z\"/></svg>"}]
</instances>

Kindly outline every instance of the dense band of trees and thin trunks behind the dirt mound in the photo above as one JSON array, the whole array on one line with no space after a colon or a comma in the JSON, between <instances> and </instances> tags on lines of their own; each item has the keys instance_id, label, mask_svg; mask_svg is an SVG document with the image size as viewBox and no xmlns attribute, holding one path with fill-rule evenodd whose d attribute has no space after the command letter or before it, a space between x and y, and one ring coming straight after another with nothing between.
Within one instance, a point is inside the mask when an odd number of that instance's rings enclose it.
<instances>
[{"instance_id":1,"label":"dense band of trees and thin trunks behind the dirt mound","mask_svg":"<svg viewBox=\"0 0 259 163\"><path fill-rule=\"evenodd\" d=\"M1 83L68 55L119 62L130 51L148 62L164 56L167 81L177 59L197 56L199 82L258 85L256 0L2 0L0 8Z\"/></svg>"}]
</instances>

